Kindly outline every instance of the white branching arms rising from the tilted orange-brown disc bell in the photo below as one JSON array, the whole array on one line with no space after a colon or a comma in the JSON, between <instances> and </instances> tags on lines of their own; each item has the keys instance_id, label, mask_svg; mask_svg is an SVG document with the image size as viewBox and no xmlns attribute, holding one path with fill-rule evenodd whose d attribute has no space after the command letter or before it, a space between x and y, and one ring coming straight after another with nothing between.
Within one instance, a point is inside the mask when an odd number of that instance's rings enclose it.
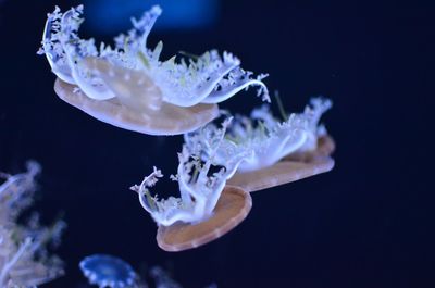
<instances>
[{"instance_id":1,"label":"white branching arms rising from the tilted orange-brown disc bell","mask_svg":"<svg viewBox=\"0 0 435 288\"><path fill-rule=\"evenodd\" d=\"M207 161L202 162L199 154L199 151L203 150L202 147L197 147L194 151L184 146L183 151L178 153L177 175L171 175L171 179L178 181L179 198L159 200L157 196L151 196L149 188L163 177L161 171L156 167L140 185L130 188L138 192L140 204L159 225L170 226L178 221L199 223L213 214L226 180L247 156L246 152L235 155L223 163L217 172L211 173L212 166L215 166L215 152L223 141L228 124L229 120L225 121L222 128L215 129L210 138L201 142L210 149Z\"/></svg>"}]
</instances>

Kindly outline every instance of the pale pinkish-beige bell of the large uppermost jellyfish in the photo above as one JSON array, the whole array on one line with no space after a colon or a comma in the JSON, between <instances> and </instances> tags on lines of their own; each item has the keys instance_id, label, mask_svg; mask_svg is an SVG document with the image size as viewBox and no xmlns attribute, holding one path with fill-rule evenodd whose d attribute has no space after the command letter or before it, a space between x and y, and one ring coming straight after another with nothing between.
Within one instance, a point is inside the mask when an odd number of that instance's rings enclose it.
<instances>
[{"instance_id":1,"label":"pale pinkish-beige bell of the large uppermost jellyfish","mask_svg":"<svg viewBox=\"0 0 435 288\"><path fill-rule=\"evenodd\" d=\"M77 86L60 78L54 83L57 95L71 105L113 126L149 135L178 135L195 130L219 115L216 104L197 104L189 108L162 102L158 110L130 109L117 98L95 100Z\"/></svg>"}]
</instances>

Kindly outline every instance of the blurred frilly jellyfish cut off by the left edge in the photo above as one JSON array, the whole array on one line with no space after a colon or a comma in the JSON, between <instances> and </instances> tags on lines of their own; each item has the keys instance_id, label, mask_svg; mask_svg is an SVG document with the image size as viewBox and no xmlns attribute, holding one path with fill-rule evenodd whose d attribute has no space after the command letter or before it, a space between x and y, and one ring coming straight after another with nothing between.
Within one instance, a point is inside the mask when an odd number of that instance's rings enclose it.
<instances>
[{"instance_id":1,"label":"blurred frilly jellyfish cut off by the left edge","mask_svg":"<svg viewBox=\"0 0 435 288\"><path fill-rule=\"evenodd\" d=\"M0 287L36 287L63 275L62 261L47 246L60 243L65 223L42 227L34 214L27 225L17 224L34 201L39 172L38 163L28 162L25 173L0 173Z\"/></svg>"}]
</instances>

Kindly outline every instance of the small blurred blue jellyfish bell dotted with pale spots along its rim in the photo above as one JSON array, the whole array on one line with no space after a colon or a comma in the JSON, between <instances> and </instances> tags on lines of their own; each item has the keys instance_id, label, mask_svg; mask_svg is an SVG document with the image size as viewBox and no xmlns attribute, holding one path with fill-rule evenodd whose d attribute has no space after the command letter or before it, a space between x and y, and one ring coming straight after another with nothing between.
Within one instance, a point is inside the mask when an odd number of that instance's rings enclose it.
<instances>
[{"instance_id":1,"label":"small blurred blue jellyfish bell dotted with pale spots along its rim","mask_svg":"<svg viewBox=\"0 0 435 288\"><path fill-rule=\"evenodd\" d=\"M79 267L89 283L99 287L127 288L136 281L136 272L127 262L108 254L87 256Z\"/></svg>"}]
</instances>

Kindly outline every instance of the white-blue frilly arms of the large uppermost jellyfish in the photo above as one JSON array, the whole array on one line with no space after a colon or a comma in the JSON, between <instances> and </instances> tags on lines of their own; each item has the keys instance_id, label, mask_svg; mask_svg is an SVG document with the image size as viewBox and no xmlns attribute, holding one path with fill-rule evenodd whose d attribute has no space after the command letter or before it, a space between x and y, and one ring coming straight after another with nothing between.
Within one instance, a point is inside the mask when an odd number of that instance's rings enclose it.
<instances>
[{"instance_id":1,"label":"white-blue frilly arms of the large uppermost jellyfish","mask_svg":"<svg viewBox=\"0 0 435 288\"><path fill-rule=\"evenodd\" d=\"M222 102L244 88L258 86L258 95L263 101L270 101L269 92L262 79L264 74L252 77L251 72L240 68L240 61L232 53L211 50L202 55L176 57L160 61L163 43L154 49L147 48L148 35L161 14L159 7L152 7L141 18L133 18L133 28L127 34L115 37L115 47L101 43L99 49L94 39L78 37L83 23L83 5L61 13L57 7L48 14L42 47L39 54L46 54L52 72L62 80L77 85L84 93L96 100L116 98L117 95L107 83L111 73L89 65L89 59L107 61L111 65L139 71L149 78L158 97L178 107L192 107L198 103ZM105 75L107 76L107 75ZM128 76L126 76L128 77ZM138 102L149 97L149 91L135 93ZM125 104L125 103L124 103ZM134 107L133 104L130 104Z\"/></svg>"}]
</instances>

